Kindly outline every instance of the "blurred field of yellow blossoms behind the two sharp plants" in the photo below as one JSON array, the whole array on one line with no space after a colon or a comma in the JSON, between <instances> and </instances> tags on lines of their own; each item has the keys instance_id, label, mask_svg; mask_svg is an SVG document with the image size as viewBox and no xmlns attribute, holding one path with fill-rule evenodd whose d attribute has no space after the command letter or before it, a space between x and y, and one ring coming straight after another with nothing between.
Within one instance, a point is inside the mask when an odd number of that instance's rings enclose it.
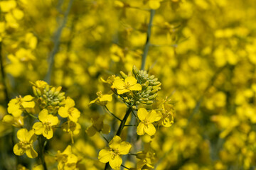
<instances>
[{"instance_id":1,"label":"blurred field of yellow blossoms behind the two sharp plants","mask_svg":"<svg viewBox=\"0 0 256 170\"><path fill-rule=\"evenodd\" d=\"M105 141L85 132L104 111L88 103L110 91L100 77L141 67L151 9L145 69L176 108L171 128L143 139L156 152L155 169L256 169L255 0L10 0L0 9L0 119L11 98L32 94L30 81L63 86L82 113L73 150L79 169L104 167L97 154ZM123 115L126 107L110 108ZM15 130L0 122L0 169L31 169L36 160L12 152ZM48 150L68 142L57 135Z\"/></svg>"}]
</instances>

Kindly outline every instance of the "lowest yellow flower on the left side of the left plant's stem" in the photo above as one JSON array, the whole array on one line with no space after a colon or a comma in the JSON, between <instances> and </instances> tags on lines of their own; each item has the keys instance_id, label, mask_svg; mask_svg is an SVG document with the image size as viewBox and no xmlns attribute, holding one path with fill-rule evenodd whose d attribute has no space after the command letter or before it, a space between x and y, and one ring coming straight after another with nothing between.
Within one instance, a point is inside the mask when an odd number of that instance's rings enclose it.
<instances>
[{"instance_id":1,"label":"lowest yellow flower on the left side of the left plant's stem","mask_svg":"<svg viewBox=\"0 0 256 170\"><path fill-rule=\"evenodd\" d=\"M14 154L21 156L26 153L29 158L35 158L38 153L33 149L32 144L36 141L36 134L33 130L26 130L25 128L18 130L17 137L20 142L14 145Z\"/></svg>"}]
</instances>

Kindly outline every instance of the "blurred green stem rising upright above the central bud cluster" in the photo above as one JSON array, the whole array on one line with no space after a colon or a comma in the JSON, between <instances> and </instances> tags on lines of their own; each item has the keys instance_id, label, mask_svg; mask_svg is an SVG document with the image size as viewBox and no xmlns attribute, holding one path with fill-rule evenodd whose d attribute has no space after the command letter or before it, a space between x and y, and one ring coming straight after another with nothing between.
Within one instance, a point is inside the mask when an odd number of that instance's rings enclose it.
<instances>
[{"instance_id":1,"label":"blurred green stem rising upright above the central bud cluster","mask_svg":"<svg viewBox=\"0 0 256 170\"><path fill-rule=\"evenodd\" d=\"M148 26L148 29L146 31L146 45L144 47L144 52L143 52L143 55L142 55L142 68L141 68L142 70L145 69L146 56L147 56L147 53L149 52L151 27L152 27L154 14L155 14L154 9L151 9L150 10L150 18L149 18L149 26Z\"/></svg>"}]
</instances>

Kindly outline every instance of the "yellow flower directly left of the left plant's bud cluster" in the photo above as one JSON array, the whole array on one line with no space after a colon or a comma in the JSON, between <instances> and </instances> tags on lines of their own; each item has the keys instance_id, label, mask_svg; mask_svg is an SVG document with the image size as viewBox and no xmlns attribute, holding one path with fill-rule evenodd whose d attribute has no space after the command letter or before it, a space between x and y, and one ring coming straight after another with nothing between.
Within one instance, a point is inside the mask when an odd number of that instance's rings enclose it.
<instances>
[{"instance_id":1,"label":"yellow flower directly left of the left plant's bud cluster","mask_svg":"<svg viewBox=\"0 0 256 170\"><path fill-rule=\"evenodd\" d=\"M14 115L14 117L18 117L22 114L24 108L33 108L35 107L35 102L32 101L33 97L31 95L21 96L11 99L8 103L7 111Z\"/></svg>"}]
</instances>

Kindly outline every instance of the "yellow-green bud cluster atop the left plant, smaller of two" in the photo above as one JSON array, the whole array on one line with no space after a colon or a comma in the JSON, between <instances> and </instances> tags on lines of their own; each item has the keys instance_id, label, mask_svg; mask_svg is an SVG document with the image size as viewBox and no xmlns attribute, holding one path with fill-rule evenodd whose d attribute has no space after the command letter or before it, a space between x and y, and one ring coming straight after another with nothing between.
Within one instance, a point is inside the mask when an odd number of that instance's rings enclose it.
<instances>
[{"instance_id":1,"label":"yellow-green bud cluster atop the left plant, smaller of two","mask_svg":"<svg viewBox=\"0 0 256 170\"><path fill-rule=\"evenodd\" d=\"M60 90L61 86L49 86L45 81L33 84L33 94L37 97L39 106L46 108L51 114L56 114L60 106L65 105L65 92Z\"/></svg>"}]
</instances>

